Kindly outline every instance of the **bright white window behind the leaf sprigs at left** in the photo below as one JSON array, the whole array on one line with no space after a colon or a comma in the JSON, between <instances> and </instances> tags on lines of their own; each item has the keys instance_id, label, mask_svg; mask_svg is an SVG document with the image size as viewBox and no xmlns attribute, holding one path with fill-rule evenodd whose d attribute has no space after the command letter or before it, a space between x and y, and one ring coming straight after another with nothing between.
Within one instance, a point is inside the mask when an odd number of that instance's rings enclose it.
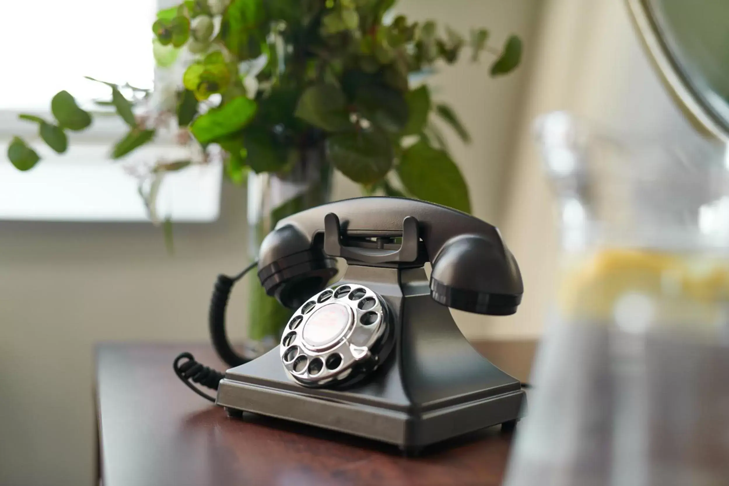
<instances>
[{"instance_id":1,"label":"bright white window behind the leaf sprigs at left","mask_svg":"<svg viewBox=\"0 0 729 486\"><path fill-rule=\"evenodd\" d=\"M163 5L163 7L166 6ZM84 79L149 88L155 77L152 21L155 0L12 1L3 5L0 45L8 66L0 88L0 219L141 221L147 211L129 168L137 162L184 157L172 141L155 141L119 162L107 154L125 133L116 117L95 117L83 133L70 133L69 151L58 155L37 136L33 123L17 119L31 112L52 119L50 99L67 90L89 109L108 99L109 89ZM13 46L12 48L10 48ZM42 162L16 171L7 144L18 135L34 146ZM180 222L208 222L219 213L222 167L190 168L165 176L157 213Z\"/></svg>"}]
</instances>

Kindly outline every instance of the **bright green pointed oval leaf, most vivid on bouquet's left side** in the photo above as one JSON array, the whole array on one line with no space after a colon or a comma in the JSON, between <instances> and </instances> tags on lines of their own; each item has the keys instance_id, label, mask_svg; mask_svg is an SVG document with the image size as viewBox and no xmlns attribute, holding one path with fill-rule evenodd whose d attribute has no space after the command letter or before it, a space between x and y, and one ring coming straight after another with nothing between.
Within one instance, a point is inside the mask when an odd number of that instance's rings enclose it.
<instances>
[{"instance_id":1,"label":"bright green pointed oval leaf, most vivid on bouquet's left side","mask_svg":"<svg viewBox=\"0 0 729 486\"><path fill-rule=\"evenodd\" d=\"M200 144L209 144L248 125L256 114L256 107L255 101L238 96L197 117L190 125L190 131Z\"/></svg>"}]
</instances>

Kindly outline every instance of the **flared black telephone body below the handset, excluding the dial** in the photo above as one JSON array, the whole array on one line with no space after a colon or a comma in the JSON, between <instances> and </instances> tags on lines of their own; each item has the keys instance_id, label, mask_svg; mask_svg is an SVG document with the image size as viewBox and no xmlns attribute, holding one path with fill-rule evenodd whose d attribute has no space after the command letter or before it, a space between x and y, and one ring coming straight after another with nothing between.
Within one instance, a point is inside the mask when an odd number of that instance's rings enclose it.
<instances>
[{"instance_id":1,"label":"flared black telephone body below the handset, excluding the dial","mask_svg":"<svg viewBox=\"0 0 729 486\"><path fill-rule=\"evenodd\" d=\"M365 285L392 313L394 350L349 388L309 388L292 380L278 347L228 369L217 404L418 450L523 415L521 383L491 364L461 334L448 307L430 296L422 268L350 264L340 283Z\"/></svg>"}]
</instances>

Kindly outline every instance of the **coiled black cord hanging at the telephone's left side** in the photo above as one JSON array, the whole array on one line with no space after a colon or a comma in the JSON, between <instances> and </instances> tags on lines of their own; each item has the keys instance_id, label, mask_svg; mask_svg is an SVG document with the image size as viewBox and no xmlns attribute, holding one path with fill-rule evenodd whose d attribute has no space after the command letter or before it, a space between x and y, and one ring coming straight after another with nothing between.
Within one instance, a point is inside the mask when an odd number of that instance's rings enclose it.
<instances>
[{"instance_id":1,"label":"coiled black cord hanging at the telephone's left side","mask_svg":"<svg viewBox=\"0 0 729 486\"><path fill-rule=\"evenodd\" d=\"M215 281L215 289L213 291L213 297L210 299L210 312L208 313L208 325L210 331L210 339L213 342L213 348L218 356L225 361L225 364L230 367L237 367L239 364L247 363L251 361L245 356L241 356L230 345L230 341L227 338L227 332L225 332L225 308L227 307L228 299L230 299L230 291L233 289L235 282L241 280L246 273L249 273L258 262L249 264L248 267L244 268L241 273L234 277L228 275L218 275L217 281ZM187 360L180 364L180 361ZM175 370L175 375L179 377L182 382L187 385L192 391L198 393L204 399L215 402L214 397L203 393L199 388L192 385L190 381L203 385L211 390L217 390L220 380L225 375L221 372L206 367L203 364L195 361L195 358L190 353L180 353L172 365Z\"/></svg>"}]
</instances>

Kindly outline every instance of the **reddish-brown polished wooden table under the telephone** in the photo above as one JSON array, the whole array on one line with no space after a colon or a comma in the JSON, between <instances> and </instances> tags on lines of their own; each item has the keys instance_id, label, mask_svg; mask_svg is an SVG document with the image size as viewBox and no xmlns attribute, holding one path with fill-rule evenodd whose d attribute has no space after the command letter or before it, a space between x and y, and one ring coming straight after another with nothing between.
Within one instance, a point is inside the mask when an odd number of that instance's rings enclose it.
<instances>
[{"instance_id":1,"label":"reddish-brown polished wooden table under the telephone","mask_svg":"<svg viewBox=\"0 0 729 486\"><path fill-rule=\"evenodd\" d=\"M531 342L477 346L523 379ZM243 420L192 393L172 371L189 350L217 369L209 345L110 343L97 348L99 467L104 486L499 485L510 435L498 427L436 444L418 458L397 447L258 415ZM498 350L498 352L496 351ZM499 361L492 354L502 356ZM504 364L510 361L510 365ZM516 370L515 368L518 368Z\"/></svg>"}]
</instances>

